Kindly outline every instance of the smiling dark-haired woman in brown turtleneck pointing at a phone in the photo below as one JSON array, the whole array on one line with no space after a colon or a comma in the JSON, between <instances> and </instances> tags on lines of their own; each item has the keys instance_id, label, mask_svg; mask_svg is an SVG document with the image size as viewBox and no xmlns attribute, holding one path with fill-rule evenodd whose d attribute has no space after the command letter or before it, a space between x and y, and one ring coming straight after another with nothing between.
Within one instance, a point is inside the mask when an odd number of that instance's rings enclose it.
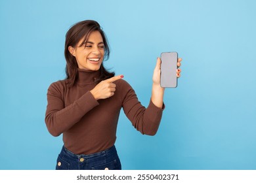
<instances>
[{"instance_id":1,"label":"smiling dark-haired woman in brown turtleneck pointing at a phone","mask_svg":"<svg viewBox=\"0 0 256 183\"><path fill-rule=\"evenodd\" d=\"M56 169L121 169L114 146L121 108L142 134L155 135L160 125L164 108L160 58L145 108L123 75L114 76L104 68L102 61L110 50L97 22L85 20L71 27L64 52L67 77L49 86L45 114L51 135L63 134ZM178 77L180 72L177 69Z\"/></svg>"}]
</instances>

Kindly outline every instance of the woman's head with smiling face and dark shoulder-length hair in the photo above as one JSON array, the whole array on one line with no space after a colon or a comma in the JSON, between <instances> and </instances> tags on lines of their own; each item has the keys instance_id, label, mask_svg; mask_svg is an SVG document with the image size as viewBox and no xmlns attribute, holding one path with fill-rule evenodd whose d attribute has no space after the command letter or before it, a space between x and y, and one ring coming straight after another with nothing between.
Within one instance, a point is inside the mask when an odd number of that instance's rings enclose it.
<instances>
[{"instance_id":1,"label":"woman's head with smiling face and dark shoulder-length hair","mask_svg":"<svg viewBox=\"0 0 256 183\"><path fill-rule=\"evenodd\" d=\"M101 64L104 59L109 58L110 48L98 22L86 20L78 22L71 27L66 33L64 54L67 63L66 79L70 82L70 86L73 86L77 79L77 68L92 69L92 71L100 69L102 73L100 80L105 80L115 75L115 73L106 71L104 65ZM99 59L98 63L93 62L95 58ZM93 63L91 65L93 68L90 67L89 63Z\"/></svg>"}]
</instances>

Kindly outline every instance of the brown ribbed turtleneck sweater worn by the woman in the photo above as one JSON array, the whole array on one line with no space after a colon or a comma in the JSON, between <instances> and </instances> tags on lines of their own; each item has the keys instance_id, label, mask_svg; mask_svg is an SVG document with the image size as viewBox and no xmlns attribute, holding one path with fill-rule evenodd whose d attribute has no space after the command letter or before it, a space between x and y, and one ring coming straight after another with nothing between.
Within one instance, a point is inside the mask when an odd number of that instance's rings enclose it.
<instances>
[{"instance_id":1,"label":"brown ribbed turtleneck sweater worn by the woman","mask_svg":"<svg viewBox=\"0 0 256 183\"><path fill-rule=\"evenodd\" d=\"M106 150L116 141L117 121L121 108L142 134L155 135L162 108L152 103L143 107L133 88L125 80L116 80L116 92L108 99L96 101L90 90L95 88L98 71L79 69L78 80L68 88L66 80L54 82L47 92L45 123L51 135L63 133L64 146L74 154L93 154Z\"/></svg>"}]
</instances>

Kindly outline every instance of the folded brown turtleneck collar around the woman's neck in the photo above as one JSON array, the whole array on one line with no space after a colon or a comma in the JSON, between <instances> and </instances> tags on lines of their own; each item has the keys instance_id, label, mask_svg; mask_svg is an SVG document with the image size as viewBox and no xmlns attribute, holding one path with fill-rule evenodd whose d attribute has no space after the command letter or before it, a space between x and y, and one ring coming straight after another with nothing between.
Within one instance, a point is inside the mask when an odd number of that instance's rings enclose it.
<instances>
[{"instance_id":1,"label":"folded brown turtleneck collar around the woman's neck","mask_svg":"<svg viewBox=\"0 0 256 183\"><path fill-rule=\"evenodd\" d=\"M92 84L95 83L95 78L100 78L100 71L89 71L85 69L77 69L78 78L77 84Z\"/></svg>"}]
</instances>

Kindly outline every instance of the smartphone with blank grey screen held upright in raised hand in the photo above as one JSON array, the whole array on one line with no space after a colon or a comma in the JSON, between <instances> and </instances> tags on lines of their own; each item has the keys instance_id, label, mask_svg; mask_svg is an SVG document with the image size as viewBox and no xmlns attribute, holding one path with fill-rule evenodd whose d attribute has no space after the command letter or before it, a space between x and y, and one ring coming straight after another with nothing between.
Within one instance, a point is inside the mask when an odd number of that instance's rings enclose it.
<instances>
[{"instance_id":1,"label":"smartphone with blank grey screen held upright in raised hand","mask_svg":"<svg viewBox=\"0 0 256 183\"><path fill-rule=\"evenodd\" d=\"M161 53L161 79L160 85L162 88L177 87L177 52Z\"/></svg>"}]
</instances>

